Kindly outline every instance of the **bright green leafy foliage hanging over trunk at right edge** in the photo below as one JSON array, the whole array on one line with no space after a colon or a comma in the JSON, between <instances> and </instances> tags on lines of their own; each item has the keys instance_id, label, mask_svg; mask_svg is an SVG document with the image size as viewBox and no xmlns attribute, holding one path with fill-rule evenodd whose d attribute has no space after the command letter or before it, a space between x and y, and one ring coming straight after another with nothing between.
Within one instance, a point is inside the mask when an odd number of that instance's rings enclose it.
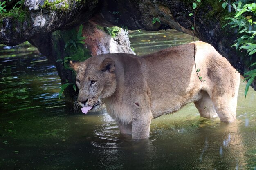
<instances>
[{"instance_id":1,"label":"bright green leafy foliage hanging over trunk at right edge","mask_svg":"<svg viewBox=\"0 0 256 170\"><path fill-rule=\"evenodd\" d=\"M222 0L219 0L219 2ZM222 3L222 7L225 9L227 4L230 5L236 13L234 17L227 17L225 20L230 20L229 23L224 25L223 27L229 25L230 28L237 28L238 27L238 39L236 39L236 43L232 46L235 46L236 49L240 50L246 49L248 56L252 57L254 53L256 53L256 4L250 3L250 1L242 0L236 1L233 4L228 4L225 0ZM254 56L255 57L255 56ZM250 66L254 66L256 63L251 64ZM249 66L249 67L250 67ZM256 76L256 69L247 71L244 76L246 76L245 80L248 80L246 87L245 87L245 97L247 95L248 89L250 84L255 79Z\"/></svg>"}]
</instances>

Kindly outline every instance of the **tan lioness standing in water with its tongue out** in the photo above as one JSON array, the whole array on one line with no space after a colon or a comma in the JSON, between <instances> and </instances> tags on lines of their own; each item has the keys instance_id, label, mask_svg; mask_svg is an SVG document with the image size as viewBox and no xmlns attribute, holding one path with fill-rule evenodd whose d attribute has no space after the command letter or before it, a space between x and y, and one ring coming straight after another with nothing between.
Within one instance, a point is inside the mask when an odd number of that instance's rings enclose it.
<instances>
[{"instance_id":1,"label":"tan lioness standing in water with its tongue out","mask_svg":"<svg viewBox=\"0 0 256 170\"><path fill-rule=\"evenodd\" d=\"M194 102L201 117L236 119L240 74L213 46L196 42L138 57L102 54L70 62L76 71L78 103L87 113L100 99L120 132L133 139L149 136L151 120Z\"/></svg>"}]
</instances>

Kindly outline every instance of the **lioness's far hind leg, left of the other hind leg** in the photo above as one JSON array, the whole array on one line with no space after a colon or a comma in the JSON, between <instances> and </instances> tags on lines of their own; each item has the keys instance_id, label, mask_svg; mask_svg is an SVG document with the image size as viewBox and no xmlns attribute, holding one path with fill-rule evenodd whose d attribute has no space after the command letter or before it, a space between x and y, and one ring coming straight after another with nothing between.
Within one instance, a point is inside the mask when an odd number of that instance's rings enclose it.
<instances>
[{"instance_id":1,"label":"lioness's far hind leg, left of the other hind leg","mask_svg":"<svg viewBox=\"0 0 256 170\"><path fill-rule=\"evenodd\" d=\"M194 102L195 107L200 113L200 116L205 118L218 117L209 94L206 91L201 91L201 93L202 97L198 101Z\"/></svg>"}]
</instances>

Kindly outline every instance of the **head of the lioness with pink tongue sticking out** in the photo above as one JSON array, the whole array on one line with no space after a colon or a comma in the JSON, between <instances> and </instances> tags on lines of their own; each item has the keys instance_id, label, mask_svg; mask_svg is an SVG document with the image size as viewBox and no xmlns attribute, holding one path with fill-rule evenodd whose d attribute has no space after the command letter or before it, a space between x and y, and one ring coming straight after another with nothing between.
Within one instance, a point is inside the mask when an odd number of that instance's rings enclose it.
<instances>
[{"instance_id":1,"label":"head of the lioness with pink tongue sticking out","mask_svg":"<svg viewBox=\"0 0 256 170\"><path fill-rule=\"evenodd\" d=\"M76 71L76 85L79 88L77 101L87 113L100 99L111 96L116 89L115 62L110 58L91 57L84 62L70 61Z\"/></svg>"}]
</instances>

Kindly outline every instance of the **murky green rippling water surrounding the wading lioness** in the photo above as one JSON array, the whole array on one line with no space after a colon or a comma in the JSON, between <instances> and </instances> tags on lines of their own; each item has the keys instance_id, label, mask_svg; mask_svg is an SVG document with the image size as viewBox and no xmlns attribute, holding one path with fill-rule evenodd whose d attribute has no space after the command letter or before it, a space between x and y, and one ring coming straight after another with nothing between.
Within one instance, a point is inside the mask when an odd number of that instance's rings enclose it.
<instances>
[{"instance_id":1,"label":"murky green rippling water surrounding the wading lioness","mask_svg":"<svg viewBox=\"0 0 256 170\"><path fill-rule=\"evenodd\" d=\"M131 36L138 55L191 42L175 31ZM243 82L236 122L201 118L189 104L153 120L148 140L132 141L104 110L85 115L66 107L55 67L35 48L6 48L0 46L0 169L256 170L256 93L250 88L244 99Z\"/></svg>"}]
</instances>

